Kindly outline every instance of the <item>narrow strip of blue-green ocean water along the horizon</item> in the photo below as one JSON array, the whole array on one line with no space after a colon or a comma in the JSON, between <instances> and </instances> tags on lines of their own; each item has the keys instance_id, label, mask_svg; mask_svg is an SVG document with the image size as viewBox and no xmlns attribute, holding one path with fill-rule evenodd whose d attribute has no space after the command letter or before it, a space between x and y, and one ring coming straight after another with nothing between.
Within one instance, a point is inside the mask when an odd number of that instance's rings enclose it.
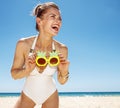
<instances>
[{"instance_id":1,"label":"narrow strip of blue-green ocean water along the horizon","mask_svg":"<svg viewBox=\"0 0 120 108\"><path fill-rule=\"evenodd\" d=\"M0 93L0 97L18 97L20 93ZM59 96L120 96L120 92L59 92Z\"/></svg>"}]
</instances>

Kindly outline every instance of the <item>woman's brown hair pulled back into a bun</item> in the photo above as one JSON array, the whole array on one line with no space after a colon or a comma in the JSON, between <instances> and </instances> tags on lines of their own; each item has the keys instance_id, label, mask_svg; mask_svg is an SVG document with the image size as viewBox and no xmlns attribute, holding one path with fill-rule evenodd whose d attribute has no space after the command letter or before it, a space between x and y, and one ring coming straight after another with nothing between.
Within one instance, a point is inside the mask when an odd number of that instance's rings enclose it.
<instances>
[{"instance_id":1,"label":"woman's brown hair pulled back into a bun","mask_svg":"<svg viewBox=\"0 0 120 108\"><path fill-rule=\"evenodd\" d=\"M54 2L46 2L43 4L38 4L33 10L33 15L42 19L43 14L45 14L47 10L50 8L55 8L60 10L59 7ZM36 23L36 30L39 31L37 23Z\"/></svg>"}]
</instances>

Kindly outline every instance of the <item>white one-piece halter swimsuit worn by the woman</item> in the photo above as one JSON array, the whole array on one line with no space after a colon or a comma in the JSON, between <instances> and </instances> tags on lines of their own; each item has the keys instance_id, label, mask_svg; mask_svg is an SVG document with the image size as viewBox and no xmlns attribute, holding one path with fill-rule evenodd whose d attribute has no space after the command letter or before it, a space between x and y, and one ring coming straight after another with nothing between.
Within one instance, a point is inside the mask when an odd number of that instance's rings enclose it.
<instances>
[{"instance_id":1,"label":"white one-piece halter swimsuit worn by the woman","mask_svg":"<svg viewBox=\"0 0 120 108\"><path fill-rule=\"evenodd\" d=\"M35 38L32 48L35 48L37 37ZM52 49L55 50L54 43ZM41 105L44 103L55 91L56 84L53 79L53 74L57 71L57 67L47 67L42 73L35 69L26 78L23 92L26 96L32 99L36 104Z\"/></svg>"}]
</instances>

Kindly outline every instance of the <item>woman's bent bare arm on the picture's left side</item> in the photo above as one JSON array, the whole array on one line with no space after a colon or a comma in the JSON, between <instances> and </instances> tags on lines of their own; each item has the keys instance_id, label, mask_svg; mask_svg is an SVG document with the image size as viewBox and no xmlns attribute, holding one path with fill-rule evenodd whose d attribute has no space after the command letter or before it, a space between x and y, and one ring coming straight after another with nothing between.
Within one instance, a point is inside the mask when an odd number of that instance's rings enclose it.
<instances>
[{"instance_id":1,"label":"woman's bent bare arm on the picture's left side","mask_svg":"<svg viewBox=\"0 0 120 108\"><path fill-rule=\"evenodd\" d=\"M34 65L31 66L30 57L26 56L27 44L25 40L18 41L14 54L13 65L11 68L11 75L14 79L20 79L29 75Z\"/></svg>"}]
</instances>

